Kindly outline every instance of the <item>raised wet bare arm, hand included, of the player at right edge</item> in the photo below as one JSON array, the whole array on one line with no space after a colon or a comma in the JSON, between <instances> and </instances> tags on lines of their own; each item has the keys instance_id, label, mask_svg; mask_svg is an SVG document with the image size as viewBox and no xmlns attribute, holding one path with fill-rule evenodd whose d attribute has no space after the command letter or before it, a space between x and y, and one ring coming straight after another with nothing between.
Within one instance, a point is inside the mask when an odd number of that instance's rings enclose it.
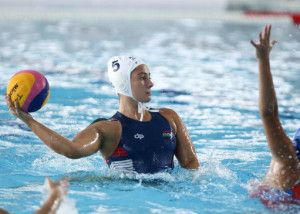
<instances>
[{"instance_id":1,"label":"raised wet bare arm, hand included, of the player at right edge","mask_svg":"<svg viewBox=\"0 0 300 214\"><path fill-rule=\"evenodd\" d=\"M259 65L259 110L272 156L281 163L296 166L297 157L291 140L280 123L269 55L275 41L270 42L271 26L267 25L259 35L259 42L251 41L256 48ZM292 158L291 158L292 157Z\"/></svg>"}]
</instances>

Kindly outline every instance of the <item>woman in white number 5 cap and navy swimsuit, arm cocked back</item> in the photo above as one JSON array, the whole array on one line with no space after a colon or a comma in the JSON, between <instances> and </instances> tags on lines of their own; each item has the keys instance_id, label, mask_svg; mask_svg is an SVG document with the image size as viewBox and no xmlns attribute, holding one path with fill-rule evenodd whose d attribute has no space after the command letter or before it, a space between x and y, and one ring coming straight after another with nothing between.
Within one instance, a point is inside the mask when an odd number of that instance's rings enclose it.
<instances>
[{"instance_id":1,"label":"woman in white number 5 cap and navy swimsuit, arm cocked back","mask_svg":"<svg viewBox=\"0 0 300 214\"><path fill-rule=\"evenodd\" d=\"M174 155L187 169L199 162L187 129L171 109L151 111L153 83L146 64L134 57L112 57L108 76L119 95L119 109L108 120L96 120L68 140L47 128L17 102L6 96L11 112L21 119L52 150L68 158L82 158L100 151L110 168L138 173L156 173L174 167Z\"/></svg>"}]
</instances>

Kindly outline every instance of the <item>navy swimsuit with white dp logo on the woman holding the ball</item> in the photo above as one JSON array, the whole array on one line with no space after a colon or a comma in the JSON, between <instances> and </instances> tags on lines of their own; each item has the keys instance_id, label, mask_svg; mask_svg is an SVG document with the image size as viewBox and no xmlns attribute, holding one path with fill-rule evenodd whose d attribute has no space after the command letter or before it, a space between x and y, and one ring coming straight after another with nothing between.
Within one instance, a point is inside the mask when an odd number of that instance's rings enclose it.
<instances>
[{"instance_id":1,"label":"navy swimsuit with white dp logo on the woman holding the ball","mask_svg":"<svg viewBox=\"0 0 300 214\"><path fill-rule=\"evenodd\" d=\"M122 136L117 149L106 162L111 169L156 173L173 169L176 138L169 122L159 113L150 112L150 121L137 121L117 112Z\"/></svg>"}]
</instances>

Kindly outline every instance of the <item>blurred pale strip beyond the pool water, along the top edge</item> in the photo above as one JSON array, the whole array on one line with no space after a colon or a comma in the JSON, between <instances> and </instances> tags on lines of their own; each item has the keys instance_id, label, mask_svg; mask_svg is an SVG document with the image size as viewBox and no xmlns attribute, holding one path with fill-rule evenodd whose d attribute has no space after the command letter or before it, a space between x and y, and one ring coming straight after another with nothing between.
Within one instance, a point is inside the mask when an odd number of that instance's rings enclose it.
<instances>
[{"instance_id":1,"label":"blurred pale strip beyond the pool water, along the top edge","mask_svg":"<svg viewBox=\"0 0 300 214\"><path fill-rule=\"evenodd\" d=\"M95 20L122 17L253 21L272 16L299 23L299 20L295 21L299 11L299 0L0 0L1 19Z\"/></svg>"}]
</instances>

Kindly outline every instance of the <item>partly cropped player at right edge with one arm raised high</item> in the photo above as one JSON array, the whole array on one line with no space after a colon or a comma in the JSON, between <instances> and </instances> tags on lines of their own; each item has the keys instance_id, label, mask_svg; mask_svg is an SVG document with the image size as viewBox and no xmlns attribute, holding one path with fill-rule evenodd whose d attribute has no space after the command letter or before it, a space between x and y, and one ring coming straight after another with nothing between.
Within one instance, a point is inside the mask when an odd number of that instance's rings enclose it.
<instances>
[{"instance_id":1,"label":"partly cropped player at right edge with one arm raised high","mask_svg":"<svg viewBox=\"0 0 300 214\"><path fill-rule=\"evenodd\" d=\"M267 25L259 34L259 42L251 41L256 48L259 64L259 110L272 154L264 185L283 190L292 198L300 199L300 130L291 140L280 123L269 61L275 41L270 42L270 34L271 25Z\"/></svg>"}]
</instances>

